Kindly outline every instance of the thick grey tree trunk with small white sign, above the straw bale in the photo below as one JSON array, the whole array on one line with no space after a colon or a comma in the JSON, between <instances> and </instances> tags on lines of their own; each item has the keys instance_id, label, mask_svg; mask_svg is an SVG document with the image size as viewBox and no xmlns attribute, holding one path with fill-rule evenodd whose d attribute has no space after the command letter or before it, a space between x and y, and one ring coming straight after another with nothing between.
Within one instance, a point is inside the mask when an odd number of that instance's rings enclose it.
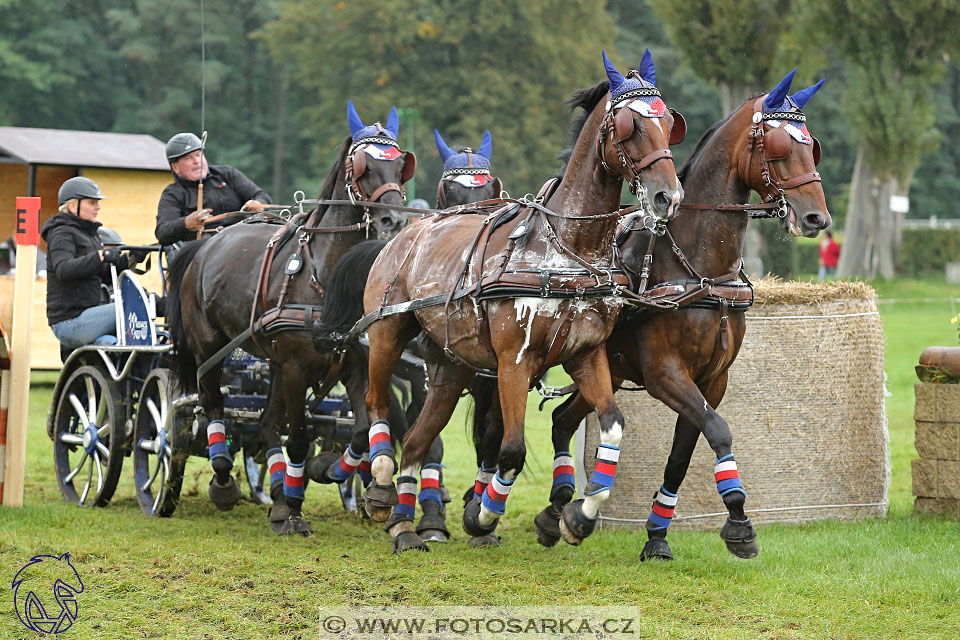
<instances>
[{"instance_id":1,"label":"thick grey tree trunk with small white sign, above the straw bale","mask_svg":"<svg viewBox=\"0 0 960 640\"><path fill-rule=\"evenodd\" d=\"M897 179L877 175L860 143L850 182L850 203L837 275L894 277L896 219L890 196L899 193Z\"/></svg>"}]
</instances>

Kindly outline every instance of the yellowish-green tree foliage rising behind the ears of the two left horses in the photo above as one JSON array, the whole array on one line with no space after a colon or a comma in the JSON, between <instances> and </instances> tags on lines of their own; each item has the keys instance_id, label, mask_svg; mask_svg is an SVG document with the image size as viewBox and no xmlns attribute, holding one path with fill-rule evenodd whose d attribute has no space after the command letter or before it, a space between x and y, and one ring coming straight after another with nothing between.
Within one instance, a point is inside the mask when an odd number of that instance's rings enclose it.
<instances>
[{"instance_id":1,"label":"yellowish-green tree foliage rising behind the ears of the two left horses","mask_svg":"<svg viewBox=\"0 0 960 640\"><path fill-rule=\"evenodd\" d=\"M599 0L307 0L280 5L263 30L275 59L290 59L317 160L329 162L347 132L346 103L364 122L391 105L420 112L417 189L432 193L441 163L432 129L450 144L493 134L494 173L511 193L536 191L566 146L563 105L605 78L600 50L614 29ZM575 45L573 43L576 43ZM429 141L429 142L428 142Z\"/></svg>"}]
</instances>

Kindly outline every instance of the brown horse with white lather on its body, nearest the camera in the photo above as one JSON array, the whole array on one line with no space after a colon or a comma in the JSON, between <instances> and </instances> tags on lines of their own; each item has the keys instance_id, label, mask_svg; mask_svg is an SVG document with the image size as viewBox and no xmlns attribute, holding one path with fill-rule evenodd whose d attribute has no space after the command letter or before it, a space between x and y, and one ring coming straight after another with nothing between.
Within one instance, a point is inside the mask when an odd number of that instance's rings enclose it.
<instances>
[{"instance_id":1,"label":"brown horse with white lather on its body, nearest the camera","mask_svg":"<svg viewBox=\"0 0 960 640\"><path fill-rule=\"evenodd\" d=\"M394 552L428 549L412 527L414 474L478 369L497 369L505 429L499 471L464 511L467 533L491 534L505 513L526 453L526 389L554 363L570 373L601 421L604 449L590 501L568 506L582 537L608 495L624 425L603 349L620 310L613 295L621 286L613 272L620 191L626 179L654 215L670 219L682 190L668 145L684 127L656 89L649 50L627 77L606 53L603 61L608 79L575 98L590 115L559 184L489 217L421 219L384 248L370 271L364 310L379 319L368 330L366 409L378 485L392 486L397 468L384 435L394 364L421 330L447 355L430 366L426 404L403 439L398 504L387 520Z\"/></svg>"}]
</instances>

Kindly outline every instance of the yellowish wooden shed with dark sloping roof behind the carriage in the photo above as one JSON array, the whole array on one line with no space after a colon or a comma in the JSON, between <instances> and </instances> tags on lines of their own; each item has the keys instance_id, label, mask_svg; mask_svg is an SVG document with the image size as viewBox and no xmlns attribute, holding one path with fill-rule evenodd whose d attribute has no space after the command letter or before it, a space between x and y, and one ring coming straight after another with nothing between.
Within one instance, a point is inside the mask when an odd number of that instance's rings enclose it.
<instances>
[{"instance_id":1,"label":"yellowish wooden shed with dark sloping roof behind the carriage","mask_svg":"<svg viewBox=\"0 0 960 640\"><path fill-rule=\"evenodd\" d=\"M57 212L57 190L68 178L86 176L107 196L98 220L127 244L155 244L153 229L160 193L172 178L164 144L153 136L0 127L0 242L12 238L17 196L41 198L42 227ZM40 249L46 251L41 244ZM155 262L155 261L154 261ZM0 322L9 329L13 316L13 274L0 274ZM154 266L142 278L158 291ZM47 282L37 278L32 369L59 369L60 347L46 323Z\"/></svg>"}]
</instances>

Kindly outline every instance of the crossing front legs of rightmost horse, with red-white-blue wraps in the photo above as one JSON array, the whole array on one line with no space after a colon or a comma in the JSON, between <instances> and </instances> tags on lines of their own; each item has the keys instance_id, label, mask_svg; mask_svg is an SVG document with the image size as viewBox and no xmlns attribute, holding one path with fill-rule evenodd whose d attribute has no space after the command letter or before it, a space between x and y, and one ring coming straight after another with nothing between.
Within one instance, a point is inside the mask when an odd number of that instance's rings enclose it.
<instances>
[{"instance_id":1,"label":"crossing front legs of rightmost horse, with red-white-blue wraps","mask_svg":"<svg viewBox=\"0 0 960 640\"><path fill-rule=\"evenodd\" d=\"M660 538L666 536L669 517L673 515L677 492L686 475L690 457L693 455L697 433L703 433L716 455L714 477L717 482L717 491L729 514L727 522L720 531L720 537L726 543L727 550L733 555L744 559L754 558L760 553L760 547L756 542L757 536L753 524L744 512L747 493L743 488L733 456L733 435L726 420L713 408L723 399L727 388L727 372L721 373L710 381L706 389L701 392L701 389L688 376L681 373L680 368L674 371L673 374L664 373L654 378L655 382L650 385L652 388L648 387L653 397L680 416L674 435L674 450L671 451L667 468L664 470L664 483L661 487L663 491L658 491L654 499L655 509L652 511L652 516L655 517L652 518L652 525L651 519L648 519L648 537L651 533ZM657 511L660 513L658 514ZM651 526L654 528L651 529ZM662 534L657 533L660 529Z\"/></svg>"}]
</instances>

